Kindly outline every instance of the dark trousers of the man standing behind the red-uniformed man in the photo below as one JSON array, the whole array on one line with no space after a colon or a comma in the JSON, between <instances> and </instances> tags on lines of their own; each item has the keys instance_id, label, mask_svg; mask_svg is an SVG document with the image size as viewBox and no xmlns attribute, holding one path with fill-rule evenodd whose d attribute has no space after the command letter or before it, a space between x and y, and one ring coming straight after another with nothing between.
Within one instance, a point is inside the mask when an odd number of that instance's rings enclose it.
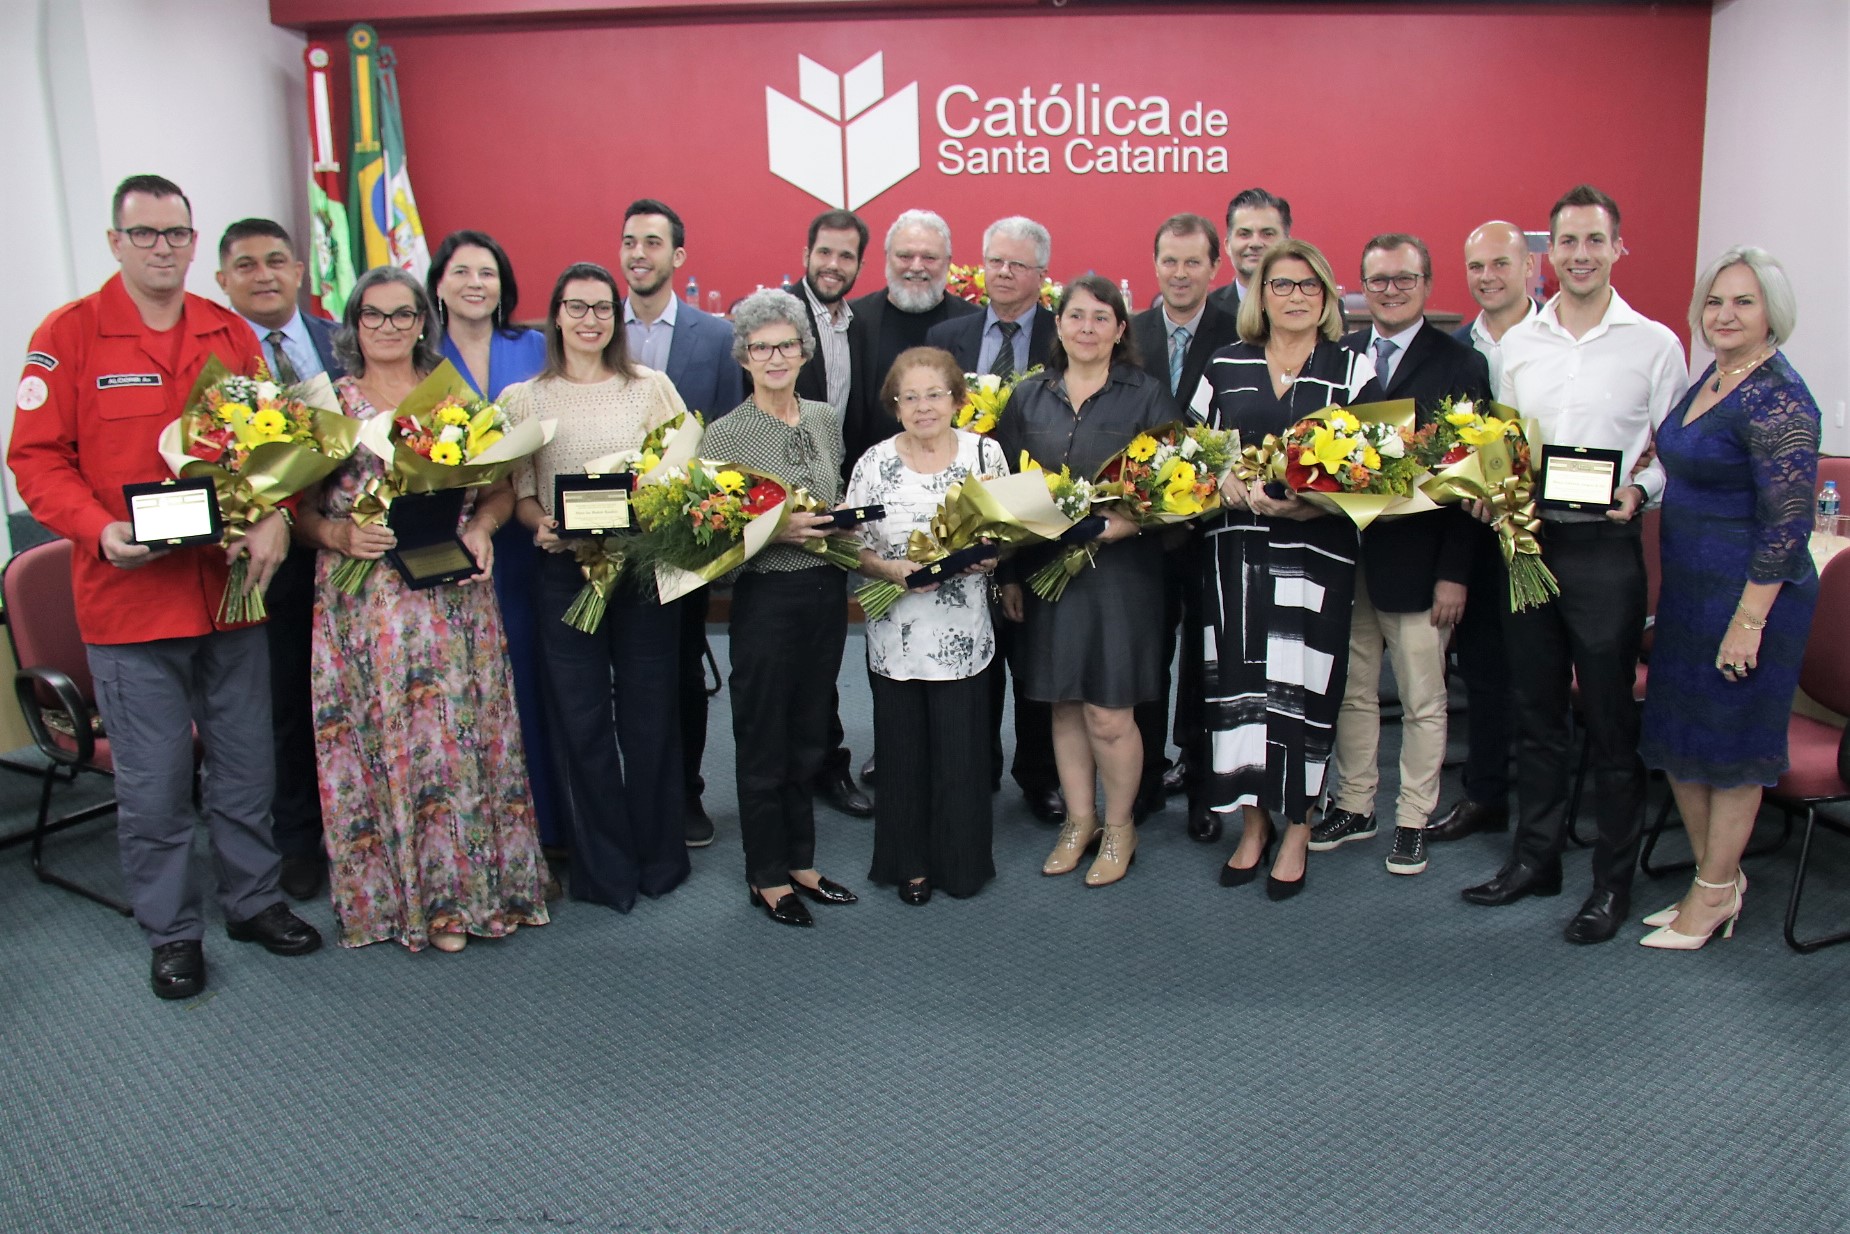
<instances>
[{"instance_id":1,"label":"dark trousers of the man standing behind the red-uniformed man","mask_svg":"<svg viewBox=\"0 0 1850 1234\"><path fill-rule=\"evenodd\" d=\"M270 836L283 857L322 857L322 790L314 777L314 549L290 546L265 592L270 622L270 723L276 797Z\"/></svg>"}]
</instances>

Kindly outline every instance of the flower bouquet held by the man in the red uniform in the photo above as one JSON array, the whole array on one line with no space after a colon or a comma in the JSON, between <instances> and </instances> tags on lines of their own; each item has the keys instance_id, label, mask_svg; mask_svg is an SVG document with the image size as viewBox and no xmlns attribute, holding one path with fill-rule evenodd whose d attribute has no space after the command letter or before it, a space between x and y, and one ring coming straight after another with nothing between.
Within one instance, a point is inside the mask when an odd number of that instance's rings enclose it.
<instances>
[{"instance_id":1,"label":"flower bouquet held by the man in the red uniform","mask_svg":"<svg viewBox=\"0 0 1850 1234\"><path fill-rule=\"evenodd\" d=\"M359 422L326 407L339 407L327 377L285 389L261 363L255 377L244 377L211 357L185 411L161 431L161 457L174 475L211 477L231 546L353 453ZM270 616L263 592L246 590L248 579L250 555L240 553L218 601L220 622Z\"/></svg>"}]
</instances>

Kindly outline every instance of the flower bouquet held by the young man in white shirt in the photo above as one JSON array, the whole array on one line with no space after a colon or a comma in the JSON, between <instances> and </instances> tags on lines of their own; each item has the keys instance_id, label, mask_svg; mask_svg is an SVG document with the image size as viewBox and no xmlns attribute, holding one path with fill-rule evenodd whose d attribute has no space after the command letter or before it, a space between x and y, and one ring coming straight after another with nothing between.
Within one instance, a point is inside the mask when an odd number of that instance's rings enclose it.
<instances>
[{"instance_id":1,"label":"flower bouquet held by the young man in white shirt","mask_svg":"<svg viewBox=\"0 0 1850 1234\"><path fill-rule=\"evenodd\" d=\"M1502 403L1447 400L1424 450L1434 475L1421 485L1434 501L1487 501L1497 511L1491 527L1510 568L1510 607L1517 612L1561 594L1536 540L1541 520L1536 518L1530 431L1523 416Z\"/></svg>"}]
</instances>

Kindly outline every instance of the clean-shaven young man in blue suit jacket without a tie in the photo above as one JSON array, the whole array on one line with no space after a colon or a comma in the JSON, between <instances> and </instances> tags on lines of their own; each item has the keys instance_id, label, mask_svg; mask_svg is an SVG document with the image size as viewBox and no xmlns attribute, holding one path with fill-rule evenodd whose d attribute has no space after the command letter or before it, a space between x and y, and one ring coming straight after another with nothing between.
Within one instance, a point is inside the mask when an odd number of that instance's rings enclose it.
<instances>
[{"instance_id":1,"label":"clean-shaven young man in blue suit jacket without a tie","mask_svg":"<svg viewBox=\"0 0 1850 1234\"><path fill-rule=\"evenodd\" d=\"M636 363L668 374L681 401L707 420L746 401L746 374L733 359L733 327L675 296L673 274L686 253L681 215L644 198L623 211L623 329ZM699 588L681 607L681 766L686 779L683 823L688 847L712 844L712 820L701 805L707 781L707 599Z\"/></svg>"}]
</instances>

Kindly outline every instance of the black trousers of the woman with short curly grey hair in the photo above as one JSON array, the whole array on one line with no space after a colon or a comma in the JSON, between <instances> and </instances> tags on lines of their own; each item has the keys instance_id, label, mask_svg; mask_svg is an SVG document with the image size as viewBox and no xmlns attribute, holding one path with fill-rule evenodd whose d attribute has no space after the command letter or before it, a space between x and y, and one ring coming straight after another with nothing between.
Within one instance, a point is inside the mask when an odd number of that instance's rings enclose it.
<instances>
[{"instance_id":1,"label":"black trousers of the woman with short curly grey hair","mask_svg":"<svg viewBox=\"0 0 1850 1234\"><path fill-rule=\"evenodd\" d=\"M834 566L742 574L733 585L731 636L746 877L753 886L779 886L792 870L816 864L810 781L829 746L829 683L847 642L847 575Z\"/></svg>"}]
</instances>

